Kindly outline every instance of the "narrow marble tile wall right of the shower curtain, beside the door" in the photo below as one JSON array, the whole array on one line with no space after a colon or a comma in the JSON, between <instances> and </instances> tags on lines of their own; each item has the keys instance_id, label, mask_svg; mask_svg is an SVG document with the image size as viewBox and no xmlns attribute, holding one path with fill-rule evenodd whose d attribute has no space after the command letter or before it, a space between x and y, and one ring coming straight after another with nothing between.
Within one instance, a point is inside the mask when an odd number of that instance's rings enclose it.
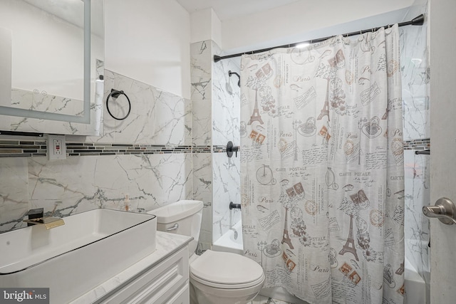
<instances>
[{"instance_id":1,"label":"narrow marble tile wall right of the shower curtain, beside the door","mask_svg":"<svg viewBox=\"0 0 456 304\"><path fill-rule=\"evenodd\" d=\"M420 14L427 17L426 0L417 0L404 21ZM403 85L404 140L411 150L405 150L405 256L417 269L430 288L430 263L427 246L430 238L429 220L423 216L423 206L430 204L430 156L415 154L430 145L430 68L428 63L427 23L400 29L401 71ZM424 140L424 141L423 141ZM420 143L420 144L417 144ZM429 299L428 299L429 300ZM429 301L427 302L429 303Z\"/></svg>"}]
</instances>

